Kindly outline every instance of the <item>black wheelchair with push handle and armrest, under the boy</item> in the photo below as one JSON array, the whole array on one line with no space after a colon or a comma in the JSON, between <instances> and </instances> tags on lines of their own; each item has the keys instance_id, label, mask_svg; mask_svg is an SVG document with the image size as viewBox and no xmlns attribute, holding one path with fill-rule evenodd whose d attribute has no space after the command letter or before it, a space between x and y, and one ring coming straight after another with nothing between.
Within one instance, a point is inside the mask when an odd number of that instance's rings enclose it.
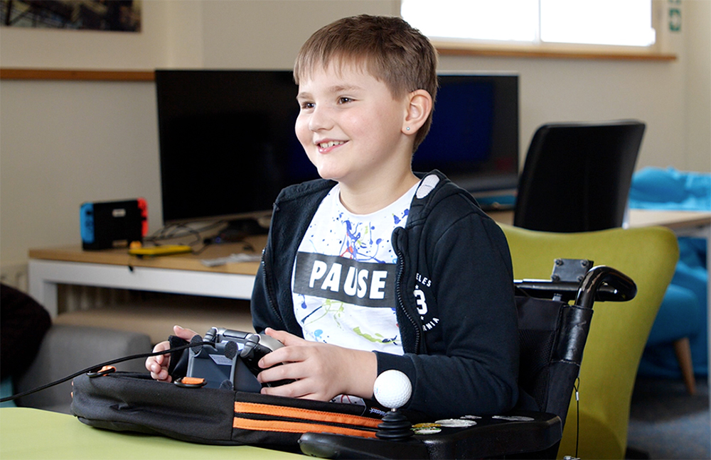
<instances>
[{"instance_id":1,"label":"black wheelchair with push handle and armrest, under the boy","mask_svg":"<svg viewBox=\"0 0 711 460\"><path fill-rule=\"evenodd\" d=\"M513 410L400 440L307 432L299 439L301 452L328 459L555 459L594 302L631 300L636 285L619 270L577 259L556 259L550 280L514 283L519 385L538 411Z\"/></svg>"}]
</instances>

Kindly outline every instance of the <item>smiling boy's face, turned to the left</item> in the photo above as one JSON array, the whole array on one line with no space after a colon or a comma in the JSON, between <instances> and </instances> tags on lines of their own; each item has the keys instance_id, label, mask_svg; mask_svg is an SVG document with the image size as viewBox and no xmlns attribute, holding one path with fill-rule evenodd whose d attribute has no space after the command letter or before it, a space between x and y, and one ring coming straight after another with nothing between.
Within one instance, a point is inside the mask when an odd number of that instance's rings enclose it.
<instances>
[{"instance_id":1,"label":"smiling boy's face, turned to the left","mask_svg":"<svg viewBox=\"0 0 711 460\"><path fill-rule=\"evenodd\" d=\"M393 99L385 83L353 65L316 67L300 80L296 136L321 177L361 187L409 168L407 96Z\"/></svg>"}]
</instances>

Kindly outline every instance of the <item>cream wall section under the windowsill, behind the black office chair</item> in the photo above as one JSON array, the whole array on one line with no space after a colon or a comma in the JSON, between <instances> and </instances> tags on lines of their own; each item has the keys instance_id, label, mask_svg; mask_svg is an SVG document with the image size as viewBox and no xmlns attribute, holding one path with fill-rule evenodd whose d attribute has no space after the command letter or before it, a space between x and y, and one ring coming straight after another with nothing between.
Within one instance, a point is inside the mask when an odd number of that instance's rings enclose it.
<instances>
[{"instance_id":1,"label":"cream wall section under the windowsill, behind the black office chair","mask_svg":"<svg viewBox=\"0 0 711 460\"><path fill-rule=\"evenodd\" d=\"M638 167L690 168L678 62L443 57L441 67L518 72L522 158L535 129L546 122L640 119L647 127Z\"/></svg>"}]
</instances>

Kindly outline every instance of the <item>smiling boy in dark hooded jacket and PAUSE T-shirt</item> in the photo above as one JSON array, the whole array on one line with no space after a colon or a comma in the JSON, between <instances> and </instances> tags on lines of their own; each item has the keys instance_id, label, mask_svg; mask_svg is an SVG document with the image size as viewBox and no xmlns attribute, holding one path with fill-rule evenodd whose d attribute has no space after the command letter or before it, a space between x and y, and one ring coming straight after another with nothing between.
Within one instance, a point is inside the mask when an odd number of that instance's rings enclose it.
<instances>
[{"instance_id":1,"label":"smiling boy in dark hooded jacket and PAUSE T-shirt","mask_svg":"<svg viewBox=\"0 0 711 460\"><path fill-rule=\"evenodd\" d=\"M285 346L262 358L258 380L296 381L262 393L372 398L375 378L395 368L412 382L405 408L429 417L516 403L506 239L471 195L410 167L436 68L429 40L395 17L344 18L301 48L296 135L324 180L287 187L274 204L252 321ZM146 367L169 380L167 361Z\"/></svg>"}]
</instances>

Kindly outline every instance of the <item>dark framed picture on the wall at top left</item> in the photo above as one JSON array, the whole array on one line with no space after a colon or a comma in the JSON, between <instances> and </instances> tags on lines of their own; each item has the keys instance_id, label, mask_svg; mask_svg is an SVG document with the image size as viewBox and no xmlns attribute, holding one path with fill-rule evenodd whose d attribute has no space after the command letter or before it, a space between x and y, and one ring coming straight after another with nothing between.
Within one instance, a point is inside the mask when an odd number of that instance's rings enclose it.
<instances>
[{"instance_id":1,"label":"dark framed picture on the wall at top left","mask_svg":"<svg viewBox=\"0 0 711 460\"><path fill-rule=\"evenodd\" d=\"M140 32L141 1L0 0L0 26Z\"/></svg>"}]
</instances>

